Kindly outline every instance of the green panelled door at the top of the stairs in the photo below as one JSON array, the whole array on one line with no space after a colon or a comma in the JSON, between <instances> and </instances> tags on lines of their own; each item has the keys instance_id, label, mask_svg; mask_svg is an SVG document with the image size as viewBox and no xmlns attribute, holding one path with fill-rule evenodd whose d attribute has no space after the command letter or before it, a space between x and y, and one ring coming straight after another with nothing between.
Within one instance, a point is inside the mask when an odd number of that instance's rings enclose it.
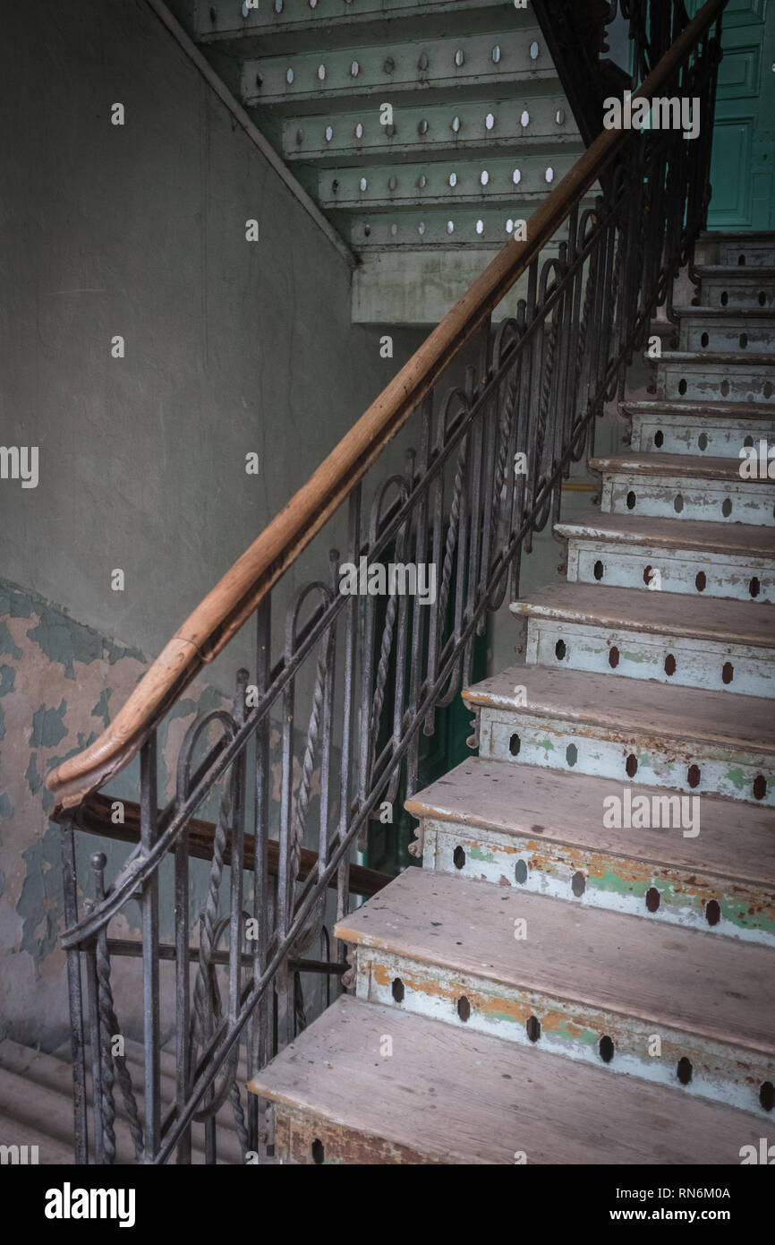
<instances>
[{"instance_id":1,"label":"green panelled door at the top of the stairs","mask_svg":"<svg viewBox=\"0 0 775 1245\"><path fill-rule=\"evenodd\" d=\"M708 228L775 229L775 0L729 0L722 31Z\"/></svg>"}]
</instances>

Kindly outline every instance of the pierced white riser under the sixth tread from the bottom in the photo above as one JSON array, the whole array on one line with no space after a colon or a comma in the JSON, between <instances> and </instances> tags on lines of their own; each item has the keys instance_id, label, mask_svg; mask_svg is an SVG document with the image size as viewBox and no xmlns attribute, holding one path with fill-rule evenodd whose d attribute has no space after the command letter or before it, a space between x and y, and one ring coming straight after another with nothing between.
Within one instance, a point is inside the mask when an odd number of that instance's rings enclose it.
<instances>
[{"instance_id":1,"label":"pierced white riser under the sixth tread from the bottom","mask_svg":"<svg viewBox=\"0 0 775 1245\"><path fill-rule=\"evenodd\" d=\"M730 554L703 552L698 555L680 549L642 549L638 545L627 548L620 542L607 544L605 540L571 540L568 544L567 578L571 581L654 591L653 588L647 588L648 580L652 584L659 583L658 590L663 593L720 596L735 601L775 601L775 568L771 559L750 558L743 561ZM702 593L698 589L698 575L704 575Z\"/></svg>"}]
</instances>

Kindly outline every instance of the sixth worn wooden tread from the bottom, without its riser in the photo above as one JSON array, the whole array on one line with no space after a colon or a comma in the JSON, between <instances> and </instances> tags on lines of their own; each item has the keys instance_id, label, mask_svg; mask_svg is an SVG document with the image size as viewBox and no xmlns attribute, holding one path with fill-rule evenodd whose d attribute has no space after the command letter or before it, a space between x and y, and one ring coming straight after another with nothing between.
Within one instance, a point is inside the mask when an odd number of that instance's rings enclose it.
<instances>
[{"instance_id":1,"label":"sixth worn wooden tread from the bottom, without its riser","mask_svg":"<svg viewBox=\"0 0 775 1245\"><path fill-rule=\"evenodd\" d=\"M557 523L555 532L566 539L616 540L628 545L659 545L698 553L734 554L745 559L775 555L775 528L764 524L601 514L582 523Z\"/></svg>"}]
</instances>

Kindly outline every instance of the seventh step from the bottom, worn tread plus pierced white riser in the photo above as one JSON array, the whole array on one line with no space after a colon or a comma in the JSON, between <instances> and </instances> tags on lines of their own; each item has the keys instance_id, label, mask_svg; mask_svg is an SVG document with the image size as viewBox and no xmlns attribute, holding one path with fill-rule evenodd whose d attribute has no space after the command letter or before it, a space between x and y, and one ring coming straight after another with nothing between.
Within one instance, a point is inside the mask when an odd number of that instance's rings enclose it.
<instances>
[{"instance_id":1,"label":"seventh step from the bottom, worn tread plus pierced white riser","mask_svg":"<svg viewBox=\"0 0 775 1245\"><path fill-rule=\"evenodd\" d=\"M602 474L601 510L710 523L775 524L775 479L759 461L633 452L590 459ZM775 469L775 463L774 463ZM764 473L764 478L759 478Z\"/></svg>"}]
</instances>

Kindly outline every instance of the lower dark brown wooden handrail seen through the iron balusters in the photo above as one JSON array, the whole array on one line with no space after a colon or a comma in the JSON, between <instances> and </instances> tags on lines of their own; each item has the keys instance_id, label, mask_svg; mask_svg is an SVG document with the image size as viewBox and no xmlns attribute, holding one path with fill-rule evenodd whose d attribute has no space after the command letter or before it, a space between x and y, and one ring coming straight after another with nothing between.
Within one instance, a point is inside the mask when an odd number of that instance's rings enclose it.
<instances>
[{"instance_id":1,"label":"lower dark brown wooden handrail seen through the iron balusters","mask_svg":"<svg viewBox=\"0 0 775 1245\"><path fill-rule=\"evenodd\" d=\"M88 834L98 834L103 839L117 839L119 843L139 843L139 804L128 799L122 799L121 803L123 804L124 819L121 823L114 823L111 817L113 801L108 796L100 796L92 792L78 808L75 819L76 825L80 830L86 830ZM198 817L193 817L187 823L187 833L189 857L197 860L211 860L213 843L215 840L213 822L203 822ZM170 848L172 850L174 850L174 844ZM231 864L230 840L226 843L224 850L224 864ZM266 844L266 867L271 876L277 875L280 869L280 844L276 839L269 839ZM248 870L255 869L255 838L253 834L246 834L244 838L243 868ZM304 881L315 869L317 869L317 852L312 852L310 848L301 848L299 880ZM350 865L350 890L353 895L369 898L371 895L376 895L377 891L382 890L392 880L389 873L381 873L378 869L367 869L362 864ZM336 874L333 874L328 885L336 890Z\"/></svg>"}]
</instances>

